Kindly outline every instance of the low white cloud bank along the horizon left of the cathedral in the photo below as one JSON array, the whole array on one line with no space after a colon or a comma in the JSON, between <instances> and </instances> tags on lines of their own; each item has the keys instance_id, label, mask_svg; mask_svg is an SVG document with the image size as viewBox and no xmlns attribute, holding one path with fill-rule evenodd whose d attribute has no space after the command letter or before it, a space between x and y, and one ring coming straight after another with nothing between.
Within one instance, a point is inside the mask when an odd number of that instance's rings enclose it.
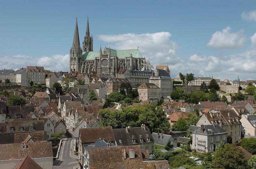
<instances>
[{"instance_id":1,"label":"low white cloud bank along the horizon left of the cathedral","mask_svg":"<svg viewBox=\"0 0 256 169\"><path fill-rule=\"evenodd\" d=\"M29 65L44 66L46 70L52 71L68 71L69 55L52 55L32 57L25 55L0 56L0 69L25 68Z\"/></svg>"}]
</instances>

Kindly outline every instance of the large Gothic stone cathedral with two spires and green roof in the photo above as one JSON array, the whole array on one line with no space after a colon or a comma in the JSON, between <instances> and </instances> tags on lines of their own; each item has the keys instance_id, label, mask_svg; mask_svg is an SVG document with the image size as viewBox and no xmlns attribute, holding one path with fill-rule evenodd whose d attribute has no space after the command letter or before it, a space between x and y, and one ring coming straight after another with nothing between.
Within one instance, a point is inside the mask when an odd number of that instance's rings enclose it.
<instances>
[{"instance_id":1,"label":"large Gothic stone cathedral with two spires and green roof","mask_svg":"<svg viewBox=\"0 0 256 169\"><path fill-rule=\"evenodd\" d=\"M69 56L69 72L97 74L113 74L120 69L150 71L153 68L150 62L142 56L138 49L115 50L100 47L100 51L93 51L93 39L90 36L89 18L87 17L86 32L83 48L80 46L77 19L73 44Z\"/></svg>"}]
</instances>

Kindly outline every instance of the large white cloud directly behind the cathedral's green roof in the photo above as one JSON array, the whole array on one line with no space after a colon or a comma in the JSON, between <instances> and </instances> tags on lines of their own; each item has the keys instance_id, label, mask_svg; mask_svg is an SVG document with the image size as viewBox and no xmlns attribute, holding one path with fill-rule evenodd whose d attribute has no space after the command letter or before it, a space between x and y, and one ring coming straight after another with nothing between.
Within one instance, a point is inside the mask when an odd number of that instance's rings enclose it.
<instances>
[{"instance_id":1,"label":"large white cloud directly behind the cathedral's green roof","mask_svg":"<svg viewBox=\"0 0 256 169\"><path fill-rule=\"evenodd\" d=\"M166 64L177 62L176 49L178 45L170 40L172 34L169 32L157 33L126 33L117 35L98 35L102 41L110 43L116 49L137 49L151 63ZM111 48L110 46L110 48Z\"/></svg>"}]
</instances>

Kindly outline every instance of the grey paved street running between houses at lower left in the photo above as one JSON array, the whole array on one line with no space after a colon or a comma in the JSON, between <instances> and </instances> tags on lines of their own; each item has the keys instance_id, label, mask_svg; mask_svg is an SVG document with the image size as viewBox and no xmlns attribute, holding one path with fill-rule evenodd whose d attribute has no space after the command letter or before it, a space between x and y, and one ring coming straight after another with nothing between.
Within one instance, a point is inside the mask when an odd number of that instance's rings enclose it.
<instances>
[{"instance_id":1,"label":"grey paved street running between houses at lower left","mask_svg":"<svg viewBox=\"0 0 256 169\"><path fill-rule=\"evenodd\" d=\"M60 148L60 156L57 163L60 163L60 165L54 166L53 168L62 168L62 169L76 169L77 166L77 157L74 155L74 153L70 152L70 149L72 149L72 152L74 152L74 140L73 135L71 135L67 130L67 138L66 140L63 140L62 146Z\"/></svg>"}]
</instances>

